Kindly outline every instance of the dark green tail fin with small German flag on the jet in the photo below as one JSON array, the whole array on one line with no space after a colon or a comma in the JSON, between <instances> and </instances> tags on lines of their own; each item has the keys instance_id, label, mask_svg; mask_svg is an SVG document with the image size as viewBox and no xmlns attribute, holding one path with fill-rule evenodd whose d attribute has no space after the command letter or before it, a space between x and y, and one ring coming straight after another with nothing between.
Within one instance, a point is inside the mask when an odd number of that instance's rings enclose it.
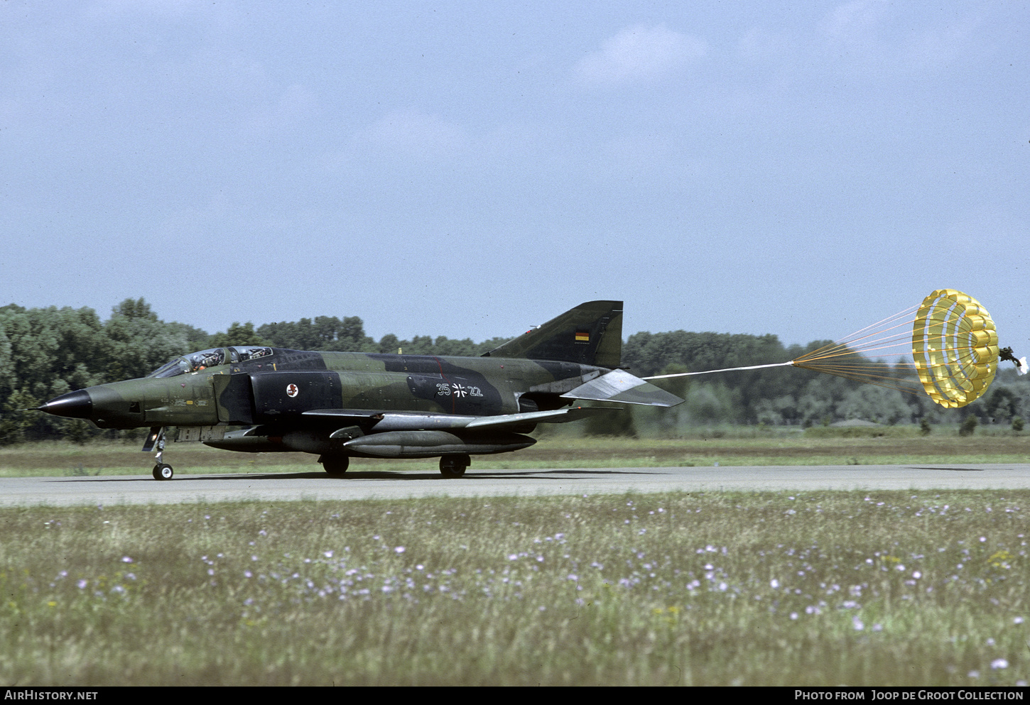
<instances>
[{"instance_id":1,"label":"dark green tail fin with small German flag on the jet","mask_svg":"<svg viewBox=\"0 0 1030 705\"><path fill-rule=\"evenodd\" d=\"M519 357L618 367L622 302L587 302L494 348L484 357Z\"/></svg>"}]
</instances>

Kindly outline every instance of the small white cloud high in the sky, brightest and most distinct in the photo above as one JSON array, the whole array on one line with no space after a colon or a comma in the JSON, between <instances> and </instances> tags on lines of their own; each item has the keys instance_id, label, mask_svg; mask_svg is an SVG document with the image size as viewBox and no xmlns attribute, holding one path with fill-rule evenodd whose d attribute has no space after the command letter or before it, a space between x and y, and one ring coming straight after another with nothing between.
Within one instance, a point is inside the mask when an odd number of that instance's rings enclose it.
<instances>
[{"instance_id":1,"label":"small white cloud high in the sky, brightest and most distinct","mask_svg":"<svg viewBox=\"0 0 1030 705\"><path fill-rule=\"evenodd\" d=\"M705 56L703 39L658 25L629 27L608 39L599 51L583 58L577 72L597 83L649 79Z\"/></svg>"}]
</instances>

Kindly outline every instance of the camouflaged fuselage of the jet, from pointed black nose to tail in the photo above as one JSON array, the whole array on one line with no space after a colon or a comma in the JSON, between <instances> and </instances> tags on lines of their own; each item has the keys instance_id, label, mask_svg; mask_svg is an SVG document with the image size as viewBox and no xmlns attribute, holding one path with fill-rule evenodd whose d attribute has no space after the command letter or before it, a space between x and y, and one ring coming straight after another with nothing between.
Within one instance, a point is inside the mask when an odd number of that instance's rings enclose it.
<instances>
[{"instance_id":1,"label":"camouflaged fuselage of the jet, from pointed black nose to tail","mask_svg":"<svg viewBox=\"0 0 1030 705\"><path fill-rule=\"evenodd\" d=\"M559 409L569 403L559 394L571 388L562 381L579 384L584 376L608 372L499 357L262 348L260 356L234 359L241 357L237 349L215 350L220 364L88 387L53 399L43 411L101 428L290 426L306 412L331 410L496 416Z\"/></svg>"}]
</instances>

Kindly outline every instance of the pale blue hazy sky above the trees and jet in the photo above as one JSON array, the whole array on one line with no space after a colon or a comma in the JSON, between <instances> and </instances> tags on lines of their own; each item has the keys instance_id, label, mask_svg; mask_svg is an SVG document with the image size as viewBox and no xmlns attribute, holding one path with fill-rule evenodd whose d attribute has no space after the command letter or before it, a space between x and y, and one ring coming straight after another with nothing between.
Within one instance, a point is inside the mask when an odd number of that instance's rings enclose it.
<instances>
[{"instance_id":1,"label":"pale blue hazy sky above the trees and jet","mask_svg":"<svg viewBox=\"0 0 1030 705\"><path fill-rule=\"evenodd\" d=\"M1026 2L0 4L0 304L1030 353Z\"/></svg>"}]
</instances>

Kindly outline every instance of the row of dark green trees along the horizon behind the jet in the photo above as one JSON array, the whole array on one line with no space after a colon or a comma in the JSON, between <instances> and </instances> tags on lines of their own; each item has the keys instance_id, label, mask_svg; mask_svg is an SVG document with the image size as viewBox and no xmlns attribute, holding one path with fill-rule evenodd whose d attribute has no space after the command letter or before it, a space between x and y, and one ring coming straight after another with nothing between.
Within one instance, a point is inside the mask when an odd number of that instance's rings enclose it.
<instances>
[{"instance_id":1,"label":"row of dark green trees along the horizon behind the jet","mask_svg":"<svg viewBox=\"0 0 1030 705\"><path fill-rule=\"evenodd\" d=\"M443 336L402 340L392 333L375 341L356 316L318 316L299 321L233 323L209 334L179 322L165 322L143 298L127 298L107 320L90 308L0 307L0 444L98 435L92 424L46 414L23 413L59 394L91 385L145 377L168 360L196 350L230 345L268 345L298 350L353 351L413 355L476 356L509 339L481 343ZM776 336L743 333L638 332L625 341L622 363L647 377L677 372L768 364L794 359L825 345L785 347ZM795 367L720 373L659 381L684 404L665 411L634 409L620 417L586 424L587 432L633 432L637 428L675 433L691 424L828 424L847 419L878 423L1008 421L1030 411L1030 381L1014 369L999 373L990 392L962 410L943 410L925 395L863 385Z\"/></svg>"}]
</instances>

